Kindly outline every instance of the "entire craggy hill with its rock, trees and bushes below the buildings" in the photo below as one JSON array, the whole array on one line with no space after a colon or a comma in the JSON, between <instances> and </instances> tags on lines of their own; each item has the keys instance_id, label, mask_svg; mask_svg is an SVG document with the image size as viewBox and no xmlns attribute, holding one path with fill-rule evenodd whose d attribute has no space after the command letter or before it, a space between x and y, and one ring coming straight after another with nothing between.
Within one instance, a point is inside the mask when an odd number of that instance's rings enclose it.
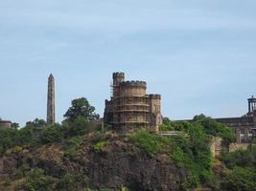
<instances>
[{"instance_id":1,"label":"entire craggy hill with its rock, trees and bushes below the buildings","mask_svg":"<svg viewBox=\"0 0 256 191\"><path fill-rule=\"evenodd\" d=\"M8 190L255 190L256 149L223 152L221 175L213 170L209 144L232 131L203 115L192 121L164 118L161 131L182 131L175 137L145 129L118 135L102 130L98 115L85 98L75 99L61 124L42 119L0 130L0 155L7 167L1 186ZM2 187L0 187L1 189Z\"/></svg>"}]
</instances>

